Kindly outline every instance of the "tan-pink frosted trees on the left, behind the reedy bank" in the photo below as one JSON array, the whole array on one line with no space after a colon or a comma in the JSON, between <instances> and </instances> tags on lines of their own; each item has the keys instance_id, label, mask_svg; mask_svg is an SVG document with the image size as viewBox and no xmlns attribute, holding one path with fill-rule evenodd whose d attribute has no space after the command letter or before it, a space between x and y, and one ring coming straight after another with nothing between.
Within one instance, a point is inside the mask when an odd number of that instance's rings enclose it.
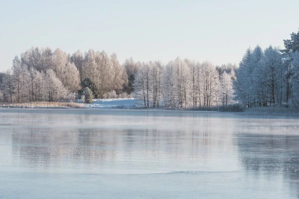
<instances>
[{"instance_id":1,"label":"tan-pink frosted trees on the left, behind the reedy bank","mask_svg":"<svg viewBox=\"0 0 299 199\"><path fill-rule=\"evenodd\" d=\"M128 76L116 54L89 50L84 55L79 51L70 55L60 49L52 52L50 48L32 47L14 57L11 69L0 74L0 100L74 100L83 93L80 83L87 77L95 84L92 95L96 98L110 93L126 96Z\"/></svg>"}]
</instances>

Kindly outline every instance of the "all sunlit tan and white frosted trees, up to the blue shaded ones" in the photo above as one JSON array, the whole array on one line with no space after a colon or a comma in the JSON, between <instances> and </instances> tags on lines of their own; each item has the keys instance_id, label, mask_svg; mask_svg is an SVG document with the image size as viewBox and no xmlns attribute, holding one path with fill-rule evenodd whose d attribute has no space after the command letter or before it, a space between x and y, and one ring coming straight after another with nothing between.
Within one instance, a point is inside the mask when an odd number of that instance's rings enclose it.
<instances>
[{"instance_id":1,"label":"all sunlit tan and white frosted trees, up to the blue shaded ones","mask_svg":"<svg viewBox=\"0 0 299 199\"><path fill-rule=\"evenodd\" d=\"M67 101L134 97L146 107L210 107L233 102L236 65L180 59L123 65L114 53L89 50L72 55L56 49L31 48L0 73L0 100Z\"/></svg>"}]
</instances>

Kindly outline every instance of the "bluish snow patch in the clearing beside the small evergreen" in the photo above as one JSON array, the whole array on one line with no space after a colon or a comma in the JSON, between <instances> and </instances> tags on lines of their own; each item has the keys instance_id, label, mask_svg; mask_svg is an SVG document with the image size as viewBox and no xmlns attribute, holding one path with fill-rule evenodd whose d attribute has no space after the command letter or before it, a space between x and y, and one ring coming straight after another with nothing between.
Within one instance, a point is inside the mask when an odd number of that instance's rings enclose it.
<instances>
[{"instance_id":1,"label":"bluish snow patch in the clearing beside the small evergreen","mask_svg":"<svg viewBox=\"0 0 299 199\"><path fill-rule=\"evenodd\" d=\"M89 108L137 108L138 100L128 99L96 99L86 104Z\"/></svg>"}]
</instances>

